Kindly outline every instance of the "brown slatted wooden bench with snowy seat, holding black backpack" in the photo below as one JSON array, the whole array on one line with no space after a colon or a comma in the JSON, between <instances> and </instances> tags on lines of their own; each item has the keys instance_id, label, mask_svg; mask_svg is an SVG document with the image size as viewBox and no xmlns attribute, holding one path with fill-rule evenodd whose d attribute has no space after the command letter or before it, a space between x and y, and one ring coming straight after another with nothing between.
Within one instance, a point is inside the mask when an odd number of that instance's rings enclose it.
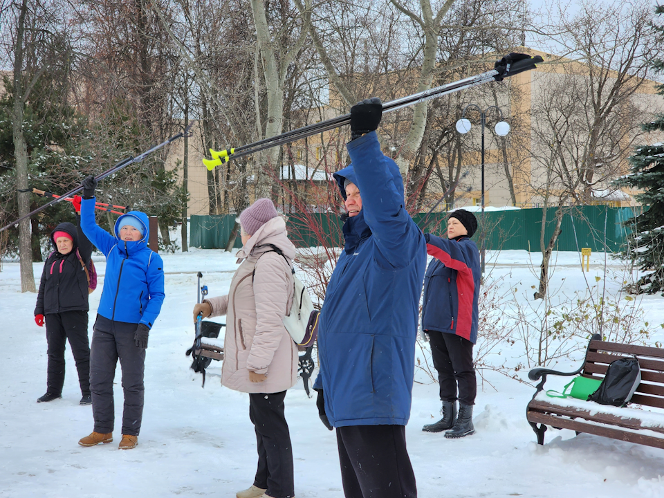
<instances>
[{"instance_id":1,"label":"brown slatted wooden bench with snowy seat, holding black backpack","mask_svg":"<svg viewBox=\"0 0 664 498\"><path fill-rule=\"evenodd\" d=\"M573 398L556 400L543 392L547 376L580 374L601 380L609 363L633 356L638 359L641 382L628 407L599 405ZM555 429L571 429L577 435L584 432L664 449L664 411L648 411L648 407L664 409L663 349L605 342L596 334L588 344L582 367L577 371L564 373L536 368L528 372L528 378L534 381L542 379L526 408L526 418L537 434L538 444L544 444L546 426L551 426ZM644 430L650 433L644 434Z\"/></svg>"}]
</instances>

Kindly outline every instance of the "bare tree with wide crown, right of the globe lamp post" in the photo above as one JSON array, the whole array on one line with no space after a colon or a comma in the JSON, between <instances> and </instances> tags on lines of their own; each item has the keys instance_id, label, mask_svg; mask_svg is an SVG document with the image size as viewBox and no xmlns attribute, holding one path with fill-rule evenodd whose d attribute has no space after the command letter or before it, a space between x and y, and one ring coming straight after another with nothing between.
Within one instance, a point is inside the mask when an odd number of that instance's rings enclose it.
<instances>
[{"instance_id":1,"label":"bare tree with wide crown, right of the globe lamp post","mask_svg":"<svg viewBox=\"0 0 664 498\"><path fill-rule=\"evenodd\" d=\"M658 50L649 43L651 21L652 8L645 1L585 4L576 17L561 17L563 35L556 42L578 60L555 61L540 79L542 96L533 109L531 187L544 201L535 299L546 293L548 262L561 233L564 206L592 201L594 191L607 188L627 168L639 124L649 112L638 92L647 84L647 69ZM557 207L555 226L546 243L551 204Z\"/></svg>"}]
</instances>

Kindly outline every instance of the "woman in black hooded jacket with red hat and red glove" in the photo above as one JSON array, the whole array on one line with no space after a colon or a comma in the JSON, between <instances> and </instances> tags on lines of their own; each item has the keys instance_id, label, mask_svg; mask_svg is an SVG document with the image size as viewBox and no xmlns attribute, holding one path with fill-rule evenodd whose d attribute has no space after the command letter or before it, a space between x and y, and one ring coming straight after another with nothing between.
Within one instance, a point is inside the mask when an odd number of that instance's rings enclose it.
<instances>
[{"instance_id":1,"label":"woman in black hooded jacket with red hat and red glove","mask_svg":"<svg viewBox=\"0 0 664 498\"><path fill-rule=\"evenodd\" d=\"M92 244L80 228L60 223L50 234L55 250L44 262L39 284L35 322L44 326L48 343L46 394L37 403L62 398L64 385L64 348L69 340L81 385L81 405L90 398L90 347L88 342L88 267ZM85 269L84 269L85 268Z\"/></svg>"}]
</instances>

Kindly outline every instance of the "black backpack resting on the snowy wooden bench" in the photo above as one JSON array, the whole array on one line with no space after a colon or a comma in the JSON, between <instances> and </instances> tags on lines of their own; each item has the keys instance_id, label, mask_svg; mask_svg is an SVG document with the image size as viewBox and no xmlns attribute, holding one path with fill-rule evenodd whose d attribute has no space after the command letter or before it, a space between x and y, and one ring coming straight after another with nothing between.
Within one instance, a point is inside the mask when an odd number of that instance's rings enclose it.
<instances>
[{"instance_id":1,"label":"black backpack resting on the snowy wooden bench","mask_svg":"<svg viewBox=\"0 0 664 498\"><path fill-rule=\"evenodd\" d=\"M640 382L641 370L638 360L620 358L609 364L600 387L588 397L588 400L601 405L623 407L629 403Z\"/></svg>"}]
</instances>

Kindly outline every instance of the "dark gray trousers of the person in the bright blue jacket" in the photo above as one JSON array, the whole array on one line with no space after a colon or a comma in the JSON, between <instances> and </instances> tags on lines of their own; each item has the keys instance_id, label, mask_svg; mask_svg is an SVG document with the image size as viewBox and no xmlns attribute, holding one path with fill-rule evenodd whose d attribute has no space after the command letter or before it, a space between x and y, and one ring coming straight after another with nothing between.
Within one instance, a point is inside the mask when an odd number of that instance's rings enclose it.
<instances>
[{"instance_id":1,"label":"dark gray trousers of the person in the bright blue jacket","mask_svg":"<svg viewBox=\"0 0 664 498\"><path fill-rule=\"evenodd\" d=\"M113 378L120 358L124 411L122 434L138 436L143 416L143 373L145 349L136 346L133 338L138 324L111 322L98 316L90 351L90 392L95 432L113 432Z\"/></svg>"}]
</instances>

